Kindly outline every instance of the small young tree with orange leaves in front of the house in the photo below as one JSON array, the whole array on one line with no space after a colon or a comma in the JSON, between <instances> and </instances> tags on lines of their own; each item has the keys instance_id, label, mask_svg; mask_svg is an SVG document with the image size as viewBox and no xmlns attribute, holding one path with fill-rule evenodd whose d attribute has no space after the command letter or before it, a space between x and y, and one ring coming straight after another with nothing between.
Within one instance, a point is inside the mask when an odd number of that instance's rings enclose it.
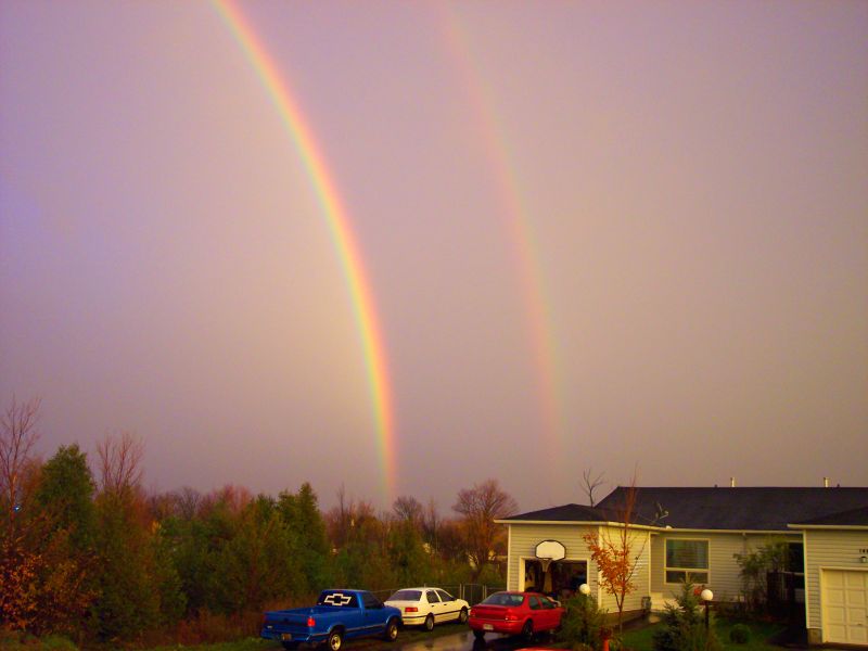
<instances>
[{"instance_id":1,"label":"small young tree with orange leaves in front of the house","mask_svg":"<svg viewBox=\"0 0 868 651\"><path fill-rule=\"evenodd\" d=\"M623 631L624 602L628 595L636 591L633 577L648 542L647 535L637 535L634 524L637 497L635 476L622 495L623 503L612 513L612 519L618 523L616 533L612 535L610 528L605 527L583 536L590 558L600 572L601 587L615 599L620 633ZM641 537L641 542L636 540L637 537Z\"/></svg>"}]
</instances>

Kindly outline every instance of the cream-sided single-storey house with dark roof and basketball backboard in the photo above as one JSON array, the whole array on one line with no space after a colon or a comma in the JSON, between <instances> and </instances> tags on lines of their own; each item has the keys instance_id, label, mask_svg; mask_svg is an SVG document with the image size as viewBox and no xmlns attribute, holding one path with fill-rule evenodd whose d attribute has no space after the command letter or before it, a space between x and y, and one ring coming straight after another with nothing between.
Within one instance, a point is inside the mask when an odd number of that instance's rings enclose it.
<instances>
[{"instance_id":1,"label":"cream-sided single-storey house with dark roof and basketball backboard","mask_svg":"<svg viewBox=\"0 0 868 651\"><path fill-rule=\"evenodd\" d=\"M600 607L615 612L585 536L615 539L629 496L618 487L593 508L564 505L498 520L508 528L507 588L560 593L587 583ZM868 646L868 488L639 487L633 498L638 589L626 615L661 610L685 580L710 588L715 601L740 600L735 554L784 540L808 640Z\"/></svg>"}]
</instances>

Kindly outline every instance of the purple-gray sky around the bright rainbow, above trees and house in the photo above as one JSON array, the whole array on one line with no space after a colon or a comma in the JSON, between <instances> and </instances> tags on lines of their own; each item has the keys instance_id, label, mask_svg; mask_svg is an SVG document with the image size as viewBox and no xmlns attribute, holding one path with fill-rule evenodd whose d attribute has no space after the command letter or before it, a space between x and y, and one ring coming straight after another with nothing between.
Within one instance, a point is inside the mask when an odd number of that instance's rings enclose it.
<instances>
[{"instance_id":1,"label":"purple-gray sky around the bright rainbow, above trees and house","mask_svg":"<svg viewBox=\"0 0 868 651\"><path fill-rule=\"evenodd\" d=\"M868 484L868 3L263 2L398 494ZM0 397L145 484L385 507L322 206L205 2L0 4Z\"/></svg>"}]
</instances>

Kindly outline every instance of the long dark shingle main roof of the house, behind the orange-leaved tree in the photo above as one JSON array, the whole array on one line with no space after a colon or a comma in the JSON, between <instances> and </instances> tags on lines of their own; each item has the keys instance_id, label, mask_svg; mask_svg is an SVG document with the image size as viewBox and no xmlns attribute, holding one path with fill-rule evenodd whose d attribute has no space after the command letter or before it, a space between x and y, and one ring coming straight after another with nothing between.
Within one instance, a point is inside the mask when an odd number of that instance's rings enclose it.
<instances>
[{"instance_id":1,"label":"long dark shingle main roof of the house, behind the orange-leaved tree","mask_svg":"<svg viewBox=\"0 0 868 651\"><path fill-rule=\"evenodd\" d=\"M617 511L625 488L618 487L599 505ZM673 528L791 531L852 509L868 508L868 488L637 488L637 512L659 526Z\"/></svg>"}]
</instances>

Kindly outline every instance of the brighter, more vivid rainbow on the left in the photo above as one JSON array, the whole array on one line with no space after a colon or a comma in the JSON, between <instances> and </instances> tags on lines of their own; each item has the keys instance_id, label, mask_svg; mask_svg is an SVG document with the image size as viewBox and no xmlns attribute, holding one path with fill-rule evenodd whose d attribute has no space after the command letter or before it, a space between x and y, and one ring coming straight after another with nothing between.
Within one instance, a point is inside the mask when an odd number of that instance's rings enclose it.
<instances>
[{"instance_id":1,"label":"brighter, more vivid rainbow on the left","mask_svg":"<svg viewBox=\"0 0 868 651\"><path fill-rule=\"evenodd\" d=\"M376 318L373 293L365 272L358 244L349 226L346 209L310 126L277 64L269 56L261 40L257 38L252 25L231 0L213 0L212 5L241 47L267 95L271 99L286 133L301 156L328 221L329 231L346 277L361 336L382 465L383 495L386 500L391 501L395 496L397 473L395 422L386 355L382 331Z\"/></svg>"}]
</instances>

